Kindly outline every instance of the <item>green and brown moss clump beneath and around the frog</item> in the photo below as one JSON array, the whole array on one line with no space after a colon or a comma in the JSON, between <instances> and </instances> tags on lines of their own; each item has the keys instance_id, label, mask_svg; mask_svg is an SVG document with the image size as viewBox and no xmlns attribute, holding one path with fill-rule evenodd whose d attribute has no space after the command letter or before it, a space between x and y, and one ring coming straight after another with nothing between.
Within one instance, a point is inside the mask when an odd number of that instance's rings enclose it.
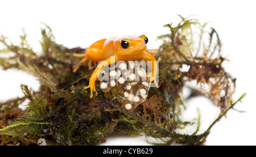
<instances>
[{"instance_id":1,"label":"green and brown moss clump beneath and around the frog","mask_svg":"<svg viewBox=\"0 0 256 157\"><path fill-rule=\"evenodd\" d=\"M40 54L28 45L25 33L20 36L18 46L1 36L0 42L6 48L0 52L8 54L0 58L1 67L30 73L38 78L41 86L34 92L22 84L24 97L0 103L0 145L39 144L40 138L46 139L47 145L98 145L112 133L141 135L141 131L147 136L164 138L162 144L204 144L212 126L243 96L236 102L232 100L236 79L222 67L227 59L221 55L216 30L212 28L209 41L203 42L206 24L181 17L181 22L173 25L164 26L170 28L170 34L159 36L163 45L155 55L159 59L160 88L151 88L147 100L133 112L122 108L119 90L105 94L98 82L98 96L89 98L89 89L85 90L84 86L88 85L93 71L85 64L76 73L72 72L72 67L79 62L73 53L84 53L85 49L70 49L55 43L48 26L41 30ZM188 66L186 72L180 70L184 65ZM191 80L200 85L200 89L192 89L193 96L203 94L216 100L221 109L219 117L203 134L197 134L200 119L195 133L176 131L189 123L180 121L180 106L185 101L180 93L185 82ZM23 111L18 105L25 100L29 102Z\"/></svg>"}]
</instances>

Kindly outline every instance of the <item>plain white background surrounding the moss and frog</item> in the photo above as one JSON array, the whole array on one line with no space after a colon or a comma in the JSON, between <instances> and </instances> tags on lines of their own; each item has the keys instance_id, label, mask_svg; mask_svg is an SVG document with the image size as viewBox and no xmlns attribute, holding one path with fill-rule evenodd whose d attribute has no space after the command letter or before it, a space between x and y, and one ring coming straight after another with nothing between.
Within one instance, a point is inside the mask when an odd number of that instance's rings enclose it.
<instances>
[{"instance_id":1,"label":"plain white background surrounding the moss and frog","mask_svg":"<svg viewBox=\"0 0 256 157\"><path fill-rule=\"evenodd\" d=\"M98 39L114 35L147 35L148 48L158 48L156 36L168 33L164 24L180 22L177 14L210 22L220 35L226 71L237 77L234 100L247 93L236 109L211 130L207 145L256 145L255 135L255 3L254 1L0 1L0 32L14 44L22 28L28 42L40 52L40 28L44 22L53 30L56 42L69 48L88 47ZM34 77L18 71L0 70L0 101L22 96L21 83L38 88ZM15 91L15 92L14 92ZM204 131L219 113L209 100L200 98L186 103L184 119L197 118L201 111ZM113 136L105 145L147 145L145 137Z\"/></svg>"}]
</instances>

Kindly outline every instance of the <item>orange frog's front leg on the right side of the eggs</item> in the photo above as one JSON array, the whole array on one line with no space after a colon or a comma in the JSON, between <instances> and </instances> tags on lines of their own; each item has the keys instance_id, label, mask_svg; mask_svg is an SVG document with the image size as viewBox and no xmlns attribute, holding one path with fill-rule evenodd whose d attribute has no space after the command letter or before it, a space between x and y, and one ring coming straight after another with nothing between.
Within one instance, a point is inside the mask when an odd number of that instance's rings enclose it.
<instances>
[{"instance_id":1,"label":"orange frog's front leg on the right side of the eggs","mask_svg":"<svg viewBox=\"0 0 256 157\"><path fill-rule=\"evenodd\" d=\"M156 59L154 56L150 55L147 52L143 52L142 59L151 61L151 75L150 75L150 83L154 81L156 88L159 88L158 82L156 81L156 76L158 74L158 65L156 64Z\"/></svg>"}]
</instances>

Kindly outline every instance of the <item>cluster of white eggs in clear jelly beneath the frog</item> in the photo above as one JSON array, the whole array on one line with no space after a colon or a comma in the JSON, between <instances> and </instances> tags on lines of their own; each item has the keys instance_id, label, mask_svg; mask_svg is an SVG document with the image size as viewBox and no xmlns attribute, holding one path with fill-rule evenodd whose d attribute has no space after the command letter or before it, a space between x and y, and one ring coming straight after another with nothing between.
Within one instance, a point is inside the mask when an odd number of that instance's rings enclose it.
<instances>
[{"instance_id":1,"label":"cluster of white eggs in clear jelly beneath the frog","mask_svg":"<svg viewBox=\"0 0 256 157\"><path fill-rule=\"evenodd\" d=\"M112 88L121 88L122 107L127 110L134 110L148 96L150 83L146 70L140 65L138 62L128 61L116 64L108 72L102 71L101 90L108 93Z\"/></svg>"}]
</instances>

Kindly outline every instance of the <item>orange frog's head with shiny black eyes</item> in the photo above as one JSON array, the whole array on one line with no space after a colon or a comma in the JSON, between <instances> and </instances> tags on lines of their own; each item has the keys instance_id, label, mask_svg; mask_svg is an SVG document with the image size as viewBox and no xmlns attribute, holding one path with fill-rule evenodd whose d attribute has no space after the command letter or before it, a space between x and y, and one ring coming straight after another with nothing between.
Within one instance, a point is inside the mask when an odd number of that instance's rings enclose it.
<instances>
[{"instance_id":1,"label":"orange frog's head with shiny black eyes","mask_svg":"<svg viewBox=\"0 0 256 157\"><path fill-rule=\"evenodd\" d=\"M141 57L147 48L148 39L145 35L141 36L122 36L115 42L115 53L122 60L134 60Z\"/></svg>"}]
</instances>

